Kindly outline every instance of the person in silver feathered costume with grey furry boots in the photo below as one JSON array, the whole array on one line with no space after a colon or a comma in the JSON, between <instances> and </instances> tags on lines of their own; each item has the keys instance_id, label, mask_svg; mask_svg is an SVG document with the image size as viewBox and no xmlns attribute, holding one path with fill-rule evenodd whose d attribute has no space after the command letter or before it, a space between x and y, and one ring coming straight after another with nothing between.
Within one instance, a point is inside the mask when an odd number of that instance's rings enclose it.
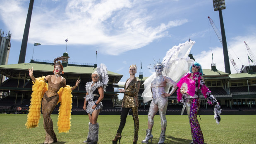
<instances>
[{"instance_id":1,"label":"person in silver feathered costume with grey furry boots","mask_svg":"<svg viewBox=\"0 0 256 144\"><path fill-rule=\"evenodd\" d=\"M102 100L108 85L108 70L104 64L100 64L91 74L91 82L86 83L86 97L84 97L84 110L88 113L90 123L87 140L84 143L97 144L99 125L97 119L102 110ZM86 106L88 102L88 105Z\"/></svg>"}]
</instances>

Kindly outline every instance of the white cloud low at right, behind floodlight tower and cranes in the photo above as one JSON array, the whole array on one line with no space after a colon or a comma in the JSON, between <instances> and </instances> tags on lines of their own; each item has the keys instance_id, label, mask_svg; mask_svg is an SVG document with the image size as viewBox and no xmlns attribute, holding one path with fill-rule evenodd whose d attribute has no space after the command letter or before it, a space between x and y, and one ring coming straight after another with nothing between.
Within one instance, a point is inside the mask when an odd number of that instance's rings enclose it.
<instances>
[{"instance_id":1,"label":"white cloud low at right, behind floodlight tower and cranes","mask_svg":"<svg viewBox=\"0 0 256 144\"><path fill-rule=\"evenodd\" d=\"M232 55L237 65L237 68L239 70L242 68L242 64L244 64L245 66L249 65L248 58L247 58L248 51L246 50L244 41L246 41L251 51L254 52L254 55L255 55L255 52L256 52L255 39L256 39L255 34L252 34L247 36L237 36L232 38L232 40L230 40L229 45L230 47L232 47L232 49L230 49L229 47L229 52ZM225 72L223 48L213 47L212 50L213 50L213 62L216 64L216 68L219 71ZM237 57L239 59L237 59ZM211 69L211 63L212 63L211 50L202 51L200 54L194 55L194 58L196 59L197 62L201 64L203 69ZM235 70L231 62L230 62L230 70L231 70L231 73L237 73L237 71Z\"/></svg>"}]
</instances>

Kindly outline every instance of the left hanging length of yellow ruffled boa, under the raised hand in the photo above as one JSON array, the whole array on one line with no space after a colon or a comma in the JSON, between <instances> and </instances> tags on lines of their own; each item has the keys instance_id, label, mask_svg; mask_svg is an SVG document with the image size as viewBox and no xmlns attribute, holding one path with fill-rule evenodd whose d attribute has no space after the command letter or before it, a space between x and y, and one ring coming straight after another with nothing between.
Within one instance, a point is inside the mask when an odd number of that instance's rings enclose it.
<instances>
[{"instance_id":1,"label":"left hanging length of yellow ruffled boa, under the raised hand","mask_svg":"<svg viewBox=\"0 0 256 144\"><path fill-rule=\"evenodd\" d=\"M26 122L26 128L34 128L38 127L39 119L41 118L41 103L43 94L48 90L48 84L44 81L44 76L41 78L36 78L36 82L32 86L32 94L30 99L30 106L29 106L29 114L28 119Z\"/></svg>"}]
</instances>

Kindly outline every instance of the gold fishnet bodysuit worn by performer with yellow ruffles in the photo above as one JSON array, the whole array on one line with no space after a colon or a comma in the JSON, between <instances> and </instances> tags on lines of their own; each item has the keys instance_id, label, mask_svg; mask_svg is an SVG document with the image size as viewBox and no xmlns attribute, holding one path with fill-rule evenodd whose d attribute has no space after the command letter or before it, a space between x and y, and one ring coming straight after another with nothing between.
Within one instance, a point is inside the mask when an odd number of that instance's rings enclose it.
<instances>
[{"instance_id":1,"label":"gold fishnet bodysuit worn by performer with yellow ruffles","mask_svg":"<svg viewBox=\"0 0 256 144\"><path fill-rule=\"evenodd\" d=\"M51 80L52 76L53 75L50 75L48 80L45 79L45 82L48 81L48 90L43 94L42 100L43 127L50 137L53 138L54 142L57 142L57 137L53 131L53 120L50 118L50 115L59 100L57 92L61 87L66 87L66 79L62 78L59 83L54 84ZM31 79L34 82L36 81L34 76L31 76ZM74 90L76 87L77 86L72 87L71 90Z\"/></svg>"}]
</instances>

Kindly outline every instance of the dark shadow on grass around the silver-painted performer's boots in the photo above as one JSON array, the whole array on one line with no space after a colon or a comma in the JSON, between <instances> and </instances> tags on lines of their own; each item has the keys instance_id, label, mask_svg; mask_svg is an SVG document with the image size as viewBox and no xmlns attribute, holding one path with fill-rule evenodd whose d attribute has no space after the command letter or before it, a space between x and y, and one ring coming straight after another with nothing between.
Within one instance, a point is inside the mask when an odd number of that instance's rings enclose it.
<instances>
[{"instance_id":1,"label":"dark shadow on grass around the silver-painted performer's boots","mask_svg":"<svg viewBox=\"0 0 256 144\"><path fill-rule=\"evenodd\" d=\"M157 144L159 138L153 138L152 144ZM149 143L151 140L148 141ZM172 136L166 136L164 144L189 144L191 143L191 139L182 139L182 138L175 138ZM206 144L206 143L205 143Z\"/></svg>"}]
</instances>

